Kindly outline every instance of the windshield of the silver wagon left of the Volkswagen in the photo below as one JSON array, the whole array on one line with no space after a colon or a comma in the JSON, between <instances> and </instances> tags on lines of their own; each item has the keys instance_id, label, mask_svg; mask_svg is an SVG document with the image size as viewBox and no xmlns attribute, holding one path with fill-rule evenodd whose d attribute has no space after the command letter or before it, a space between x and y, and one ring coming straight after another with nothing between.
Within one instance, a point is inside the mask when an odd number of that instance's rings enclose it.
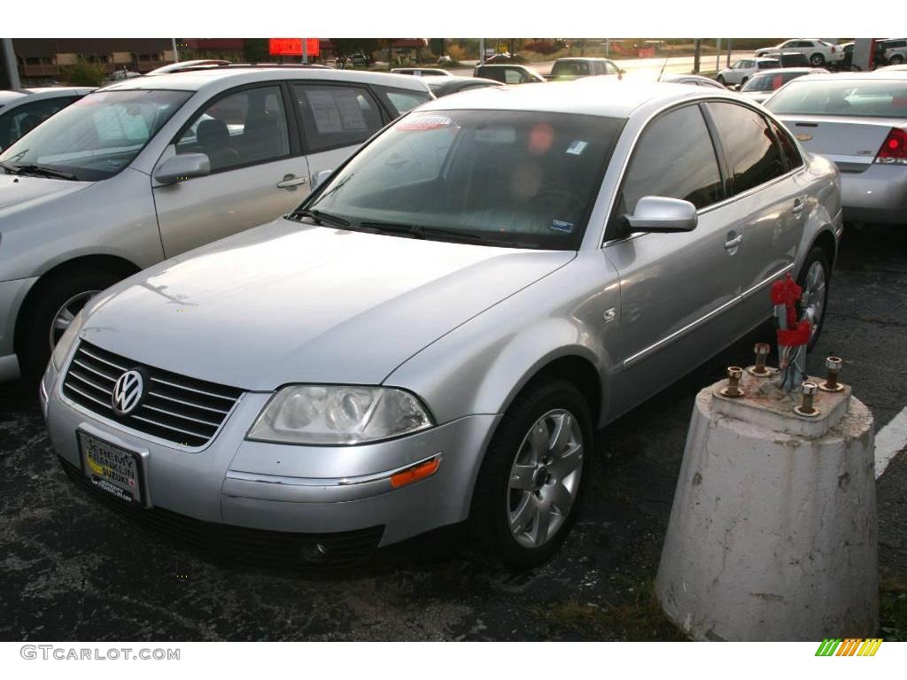
<instances>
[{"instance_id":1,"label":"windshield of the silver wagon left of the Volkswagen","mask_svg":"<svg viewBox=\"0 0 907 680\"><path fill-rule=\"evenodd\" d=\"M8 171L37 166L74 180L106 180L128 166L192 92L95 92L66 107L0 155Z\"/></svg>"}]
</instances>

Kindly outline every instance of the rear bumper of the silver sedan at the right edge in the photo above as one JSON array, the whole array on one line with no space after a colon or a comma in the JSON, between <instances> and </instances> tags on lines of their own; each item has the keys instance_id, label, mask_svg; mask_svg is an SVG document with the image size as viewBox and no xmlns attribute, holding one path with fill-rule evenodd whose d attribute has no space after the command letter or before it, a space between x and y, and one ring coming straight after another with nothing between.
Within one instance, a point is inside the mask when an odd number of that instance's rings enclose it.
<instances>
[{"instance_id":1,"label":"rear bumper of the silver sedan at the right edge","mask_svg":"<svg viewBox=\"0 0 907 680\"><path fill-rule=\"evenodd\" d=\"M907 165L872 163L841 173L841 202L848 222L907 224Z\"/></svg>"}]
</instances>

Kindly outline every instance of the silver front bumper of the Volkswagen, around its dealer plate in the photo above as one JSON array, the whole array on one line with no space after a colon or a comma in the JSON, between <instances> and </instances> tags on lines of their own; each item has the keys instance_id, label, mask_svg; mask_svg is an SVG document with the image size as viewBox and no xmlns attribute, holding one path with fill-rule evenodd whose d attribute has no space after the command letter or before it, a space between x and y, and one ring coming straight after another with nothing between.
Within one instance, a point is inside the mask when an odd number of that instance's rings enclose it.
<instances>
[{"instance_id":1,"label":"silver front bumper of the Volkswagen, around its dealer plate","mask_svg":"<svg viewBox=\"0 0 907 680\"><path fill-rule=\"evenodd\" d=\"M141 454L143 512L295 534L380 526L381 546L468 516L482 455L500 417L467 416L397 440L358 446L247 442L249 425L270 395L245 393L210 445L187 452L152 442L69 402L53 364L39 392L54 451L70 473L81 474L82 468L76 432ZM442 460L432 476L392 487L395 471L436 455Z\"/></svg>"}]
</instances>

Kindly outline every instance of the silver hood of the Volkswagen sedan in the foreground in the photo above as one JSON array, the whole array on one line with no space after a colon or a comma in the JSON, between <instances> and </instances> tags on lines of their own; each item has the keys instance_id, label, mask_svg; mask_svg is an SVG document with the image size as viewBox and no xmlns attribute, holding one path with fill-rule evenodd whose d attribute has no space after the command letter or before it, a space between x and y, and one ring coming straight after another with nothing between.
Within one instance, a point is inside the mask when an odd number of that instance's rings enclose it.
<instances>
[{"instance_id":1,"label":"silver hood of the Volkswagen sedan in the foreground","mask_svg":"<svg viewBox=\"0 0 907 680\"><path fill-rule=\"evenodd\" d=\"M112 287L90 304L80 335L143 364L247 390L380 384L575 255L278 219Z\"/></svg>"}]
</instances>

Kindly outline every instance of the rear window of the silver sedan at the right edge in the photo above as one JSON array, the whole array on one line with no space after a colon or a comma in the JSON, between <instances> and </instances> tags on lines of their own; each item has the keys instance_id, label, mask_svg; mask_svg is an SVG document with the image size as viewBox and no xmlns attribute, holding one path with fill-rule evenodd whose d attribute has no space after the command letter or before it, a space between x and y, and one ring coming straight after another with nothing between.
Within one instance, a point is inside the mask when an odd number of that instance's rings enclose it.
<instances>
[{"instance_id":1,"label":"rear window of the silver sedan at the right edge","mask_svg":"<svg viewBox=\"0 0 907 680\"><path fill-rule=\"evenodd\" d=\"M779 115L907 118L907 82L797 79L766 106Z\"/></svg>"}]
</instances>

